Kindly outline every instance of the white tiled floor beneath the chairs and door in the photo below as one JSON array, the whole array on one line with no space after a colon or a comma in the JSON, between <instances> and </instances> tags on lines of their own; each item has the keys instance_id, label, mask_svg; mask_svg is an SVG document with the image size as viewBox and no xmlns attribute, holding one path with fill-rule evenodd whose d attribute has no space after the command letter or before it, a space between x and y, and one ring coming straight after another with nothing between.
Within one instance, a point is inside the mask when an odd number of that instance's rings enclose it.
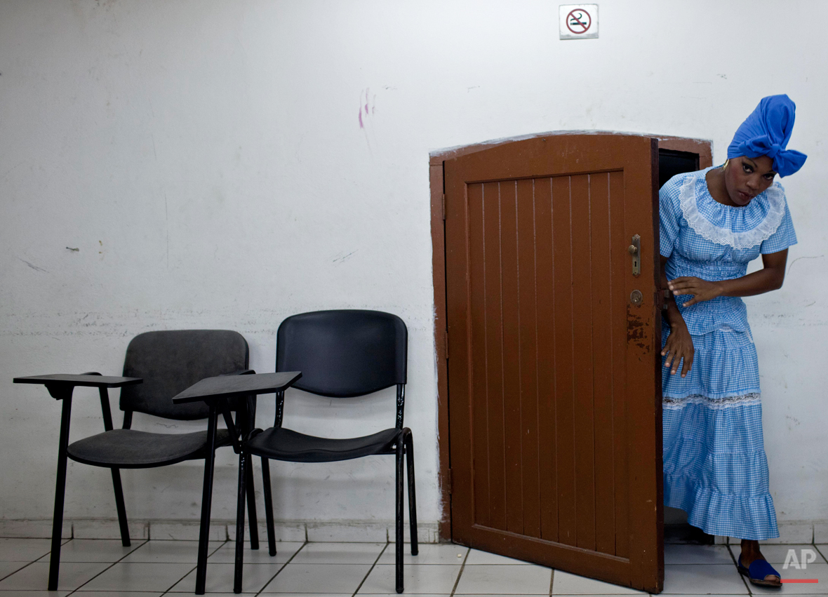
<instances>
[{"instance_id":1,"label":"white tiled floor beneath the chairs and door","mask_svg":"<svg viewBox=\"0 0 828 597\"><path fill-rule=\"evenodd\" d=\"M279 553L273 558L265 547L245 553L244 591L248 595L396 595L393 545L280 542ZM209 546L207 592L211 597L233 595L233 549L233 542ZM806 568L783 569L791 549L797 564L805 554ZM828 595L828 561L824 556L828 546L763 546L763 552L782 571L783 578L816 578L818 582L786 584L781 591L762 590L742 580L728 546L667 545L662 595ZM153 540L123 547L118 541L68 540L62 548L60 590L50 593L46 591L49 541L0 539L0 597L192 594L195 556L196 542ZM420 555L408 553L405 564L405 594L418 597L646 595L455 545L421 545Z\"/></svg>"}]
</instances>

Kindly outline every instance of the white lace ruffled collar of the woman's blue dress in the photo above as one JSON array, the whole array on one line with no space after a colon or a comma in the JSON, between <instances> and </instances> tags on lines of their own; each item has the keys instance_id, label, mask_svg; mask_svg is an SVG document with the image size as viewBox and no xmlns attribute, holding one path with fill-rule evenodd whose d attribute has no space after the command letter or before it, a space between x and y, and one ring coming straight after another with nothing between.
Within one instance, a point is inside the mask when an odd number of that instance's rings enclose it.
<instances>
[{"instance_id":1,"label":"white lace ruffled collar of the woman's blue dress","mask_svg":"<svg viewBox=\"0 0 828 597\"><path fill-rule=\"evenodd\" d=\"M744 207L720 204L707 190L707 168L687 176L679 195L681 213L700 237L733 248L751 248L776 232L785 215L785 190L778 182Z\"/></svg>"}]
</instances>

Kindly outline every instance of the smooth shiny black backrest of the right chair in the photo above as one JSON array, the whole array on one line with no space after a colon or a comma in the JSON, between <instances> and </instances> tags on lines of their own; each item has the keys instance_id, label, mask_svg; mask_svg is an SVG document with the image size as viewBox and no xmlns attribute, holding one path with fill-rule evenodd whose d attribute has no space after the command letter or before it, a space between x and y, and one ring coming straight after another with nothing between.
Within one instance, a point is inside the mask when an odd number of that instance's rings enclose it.
<instances>
[{"instance_id":1,"label":"smooth shiny black backrest of the right chair","mask_svg":"<svg viewBox=\"0 0 828 597\"><path fill-rule=\"evenodd\" d=\"M406 383L408 330L383 311L314 311L279 325L276 370L301 371L294 388L329 397L363 396Z\"/></svg>"}]
</instances>

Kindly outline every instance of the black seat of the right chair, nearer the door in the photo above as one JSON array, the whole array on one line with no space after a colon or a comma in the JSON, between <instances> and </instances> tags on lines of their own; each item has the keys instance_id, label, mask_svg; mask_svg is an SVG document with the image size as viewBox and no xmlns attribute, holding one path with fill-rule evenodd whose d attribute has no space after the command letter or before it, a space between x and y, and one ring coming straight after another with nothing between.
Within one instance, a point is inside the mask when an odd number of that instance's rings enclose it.
<instances>
[{"instance_id":1,"label":"black seat of the right chair, nearer the door","mask_svg":"<svg viewBox=\"0 0 828 597\"><path fill-rule=\"evenodd\" d=\"M284 427L271 427L253 436L245 445L245 450L271 460L333 462L388 454L401 435L402 430L386 429L371 436L332 439L306 436Z\"/></svg>"}]
</instances>

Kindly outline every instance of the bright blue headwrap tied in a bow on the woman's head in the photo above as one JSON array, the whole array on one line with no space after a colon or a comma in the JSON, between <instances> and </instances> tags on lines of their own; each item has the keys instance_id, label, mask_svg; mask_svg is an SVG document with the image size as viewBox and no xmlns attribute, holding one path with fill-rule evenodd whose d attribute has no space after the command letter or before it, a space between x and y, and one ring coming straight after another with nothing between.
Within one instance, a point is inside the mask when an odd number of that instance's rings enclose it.
<instances>
[{"instance_id":1,"label":"bright blue headwrap tied in a bow on the woman's head","mask_svg":"<svg viewBox=\"0 0 828 597\"><path fill-rule=\"evenodd\" d=\"M793 132L793 119L797 106L787 95L768 95L736 131L727 148L732 157L768 156L773 160L773 170L779 176L788 176L802 168L807 156L786 150Z\"/></svg>"}]
</instances>

